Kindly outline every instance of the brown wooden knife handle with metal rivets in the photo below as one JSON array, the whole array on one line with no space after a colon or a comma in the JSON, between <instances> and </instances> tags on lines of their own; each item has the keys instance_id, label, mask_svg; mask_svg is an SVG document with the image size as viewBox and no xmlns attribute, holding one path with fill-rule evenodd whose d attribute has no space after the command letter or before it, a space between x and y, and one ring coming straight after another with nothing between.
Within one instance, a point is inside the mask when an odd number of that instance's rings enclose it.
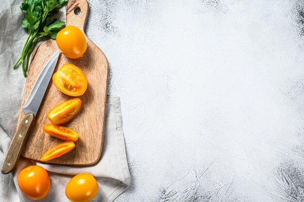
<instances>
[{"instance_id":1,"label":"brown wooden knife handle with metal rivets","mask_svg":"<svg viewBox=\"0 0 304 202\"><path fill-rule=\"evenodd\" d=\"M19 124L2 163L2 174L10 173L15 168L33 120L34 114L27 114Z\"/></svg>"}]
</instances>

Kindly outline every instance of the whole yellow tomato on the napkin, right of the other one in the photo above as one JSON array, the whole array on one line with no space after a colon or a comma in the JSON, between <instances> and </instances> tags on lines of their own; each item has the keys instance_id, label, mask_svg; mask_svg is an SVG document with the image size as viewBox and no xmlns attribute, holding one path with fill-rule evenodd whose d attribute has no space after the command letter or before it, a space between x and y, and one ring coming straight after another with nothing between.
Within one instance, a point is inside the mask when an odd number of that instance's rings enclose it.
<instances>
[{"instance_id":1,"label":"whole yellow tomato on the napkin, right of the other one","mask_svg":"<svg viewBox=\"0 0 304 202\"><path fill-rule=\"evenodd\" d=\"M66 196L72 202L88 202L94 199L97 192L97 181L88 173L74 176L66 187Z\"/></svg>"}]
</instances>

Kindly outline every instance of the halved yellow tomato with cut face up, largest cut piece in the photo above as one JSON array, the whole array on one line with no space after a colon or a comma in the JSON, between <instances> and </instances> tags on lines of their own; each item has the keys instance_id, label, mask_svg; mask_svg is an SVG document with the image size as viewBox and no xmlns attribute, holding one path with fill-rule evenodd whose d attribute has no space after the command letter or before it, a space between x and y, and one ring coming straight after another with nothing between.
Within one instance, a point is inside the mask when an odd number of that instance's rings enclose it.
<instances>
[{"instance_id":1,"label":"halved yellow tomato with cut face up, largest cut piece","mask_svg":"<svg viewBox=\"0 0 304 202\"><path fill-rule=\"evenodd\" d=\"M83 95L87 87L87 79L84 72L75 65L63 65L52 77L53 83L66 95Z\"/></svg>"}]
</instances>

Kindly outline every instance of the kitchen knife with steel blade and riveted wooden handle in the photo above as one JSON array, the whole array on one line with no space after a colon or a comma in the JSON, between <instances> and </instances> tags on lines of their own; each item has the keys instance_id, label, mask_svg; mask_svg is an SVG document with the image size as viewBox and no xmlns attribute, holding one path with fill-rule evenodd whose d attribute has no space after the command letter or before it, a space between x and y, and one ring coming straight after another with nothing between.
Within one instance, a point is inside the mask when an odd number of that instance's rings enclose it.
<instances>
[{"instance_id":1,"label":"kitchen knife with steel blade and riveted wooden handle","mask_svg":"<svg viewBox=\"0 0 304 202\"><path fill-rule=\"evenodd\" d=\"M22 111L25 113L25 117L19 124L17 131L10 144L10 147L8 148L6 156L2 163L2 174L7 174L11 172L16 166L16 163L22 151L22 147L25 143L29 128L33 123L34 117L38 112L45 91L47 90L47 87L50 83L51 76L56 67L56 63L59 57L59 52L60 50L57 50L51 56L47 64L43 67L27 101L23 105Z\"/></svg>"}]
</instances>

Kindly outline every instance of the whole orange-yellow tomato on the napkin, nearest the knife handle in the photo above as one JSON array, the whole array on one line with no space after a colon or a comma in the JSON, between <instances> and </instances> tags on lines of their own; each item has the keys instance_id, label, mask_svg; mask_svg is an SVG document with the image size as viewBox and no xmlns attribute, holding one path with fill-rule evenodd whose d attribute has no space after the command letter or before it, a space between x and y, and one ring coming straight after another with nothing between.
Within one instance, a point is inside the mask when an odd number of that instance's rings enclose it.
<instances>
[{"instance_id":1,"label":"whole orange-yellow tomato on the napkin, nearest the knife handle","mask_svg":"<svg viewBox=\"0 0 304 202\"><path fill-rule=\"evenodd\" d=\"M50 177L41 166L29 166L19 172L18 185L28 198L41 200L49 193Z\"/></svg>"}]
</instances>

